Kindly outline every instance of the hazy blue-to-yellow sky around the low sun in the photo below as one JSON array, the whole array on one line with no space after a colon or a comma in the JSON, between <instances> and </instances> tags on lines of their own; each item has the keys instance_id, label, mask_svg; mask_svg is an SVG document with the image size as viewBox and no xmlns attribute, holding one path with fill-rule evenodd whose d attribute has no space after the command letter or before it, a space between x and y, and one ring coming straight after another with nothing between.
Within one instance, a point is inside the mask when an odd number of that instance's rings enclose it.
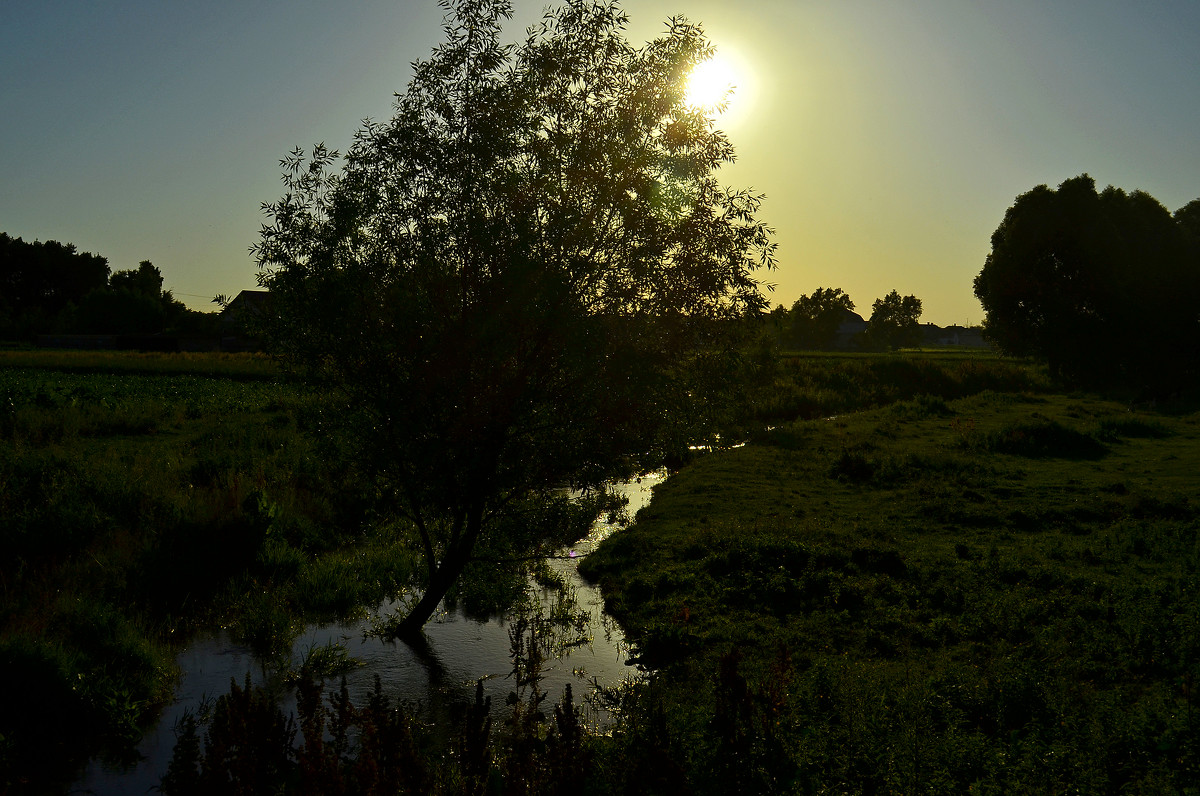
<instances>
[{"instance_id":1,"label":"hazy blue-to-yellow sky around the low sun","mask_svg":"<svg viewBox=\"0 0 1200 796\"><path fill-rule=\"evenodd\" d=\"M514 0L517 41L547 0ZM1169 210L1200 197L1195 0L626 0L734 71L728 186L767 196L773 305L889 291L978 324L1004 210L1088 173ZM188 306L256 287L278 161L390 116L442 41L434 0L2 0L0 232L157 265Z\"/></svg>"}]
</instances>

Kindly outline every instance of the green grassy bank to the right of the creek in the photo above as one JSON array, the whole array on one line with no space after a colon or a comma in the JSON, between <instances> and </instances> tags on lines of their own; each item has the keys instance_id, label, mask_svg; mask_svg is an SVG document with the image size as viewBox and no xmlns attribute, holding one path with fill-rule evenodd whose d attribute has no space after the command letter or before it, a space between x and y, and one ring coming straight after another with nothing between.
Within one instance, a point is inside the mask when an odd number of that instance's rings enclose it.
<instances>
[{"instance_id":1,"label":"green grassy bank to the right of the creek","mask_svg":"<svg viewBox=\"0 0 1200 796\"><path fill-rule=\"evenodd\" d=\"M996 363L815 361L792 366L934 395L830 397L703 456L584 563L659 672L613 770L649 792L1196 792L1200 414L952 378Z\"/></svg>"}]
</instances>

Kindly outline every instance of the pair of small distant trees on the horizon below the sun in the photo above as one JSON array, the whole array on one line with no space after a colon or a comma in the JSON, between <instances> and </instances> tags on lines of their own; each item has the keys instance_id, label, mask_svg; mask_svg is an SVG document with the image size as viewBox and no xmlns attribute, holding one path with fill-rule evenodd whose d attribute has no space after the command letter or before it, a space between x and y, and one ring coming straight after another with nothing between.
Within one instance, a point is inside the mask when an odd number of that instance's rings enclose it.
<instances>
[{"instance_id":1,"label":"pair of small distant trees on the horizon below the sun","mask_svg":"<svg viewBox=\"0 0 1200 796\"><path fill-rule=\"evenodd\" d=\"M784 348L893 351L923 342L920 312L920 299L892 291L875 300L864 322L841 288L818 287L797 299L791 310L779 306L770 315Z\"/></svg>"}]
</instances>

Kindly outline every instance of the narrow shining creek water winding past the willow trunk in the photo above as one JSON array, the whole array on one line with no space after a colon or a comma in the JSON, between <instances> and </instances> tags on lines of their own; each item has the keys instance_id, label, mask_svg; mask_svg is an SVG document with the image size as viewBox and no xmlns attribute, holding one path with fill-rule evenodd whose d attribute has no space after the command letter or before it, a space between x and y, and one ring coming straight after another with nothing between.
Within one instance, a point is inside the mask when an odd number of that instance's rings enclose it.
<instances>
[{"instance_id":1,"label":"narrow shining creek water winding past the willow trunk","mask_svg":"<svg viewBox=\"0 0 1200 796\"><path fill-rule=\"evenodd\" d=\"M616 486L629 501L629 516L636 515L649 502L652 487L664 477L664 472L658 472ZM558 700L570 683L575 701L584 705L584 719L590 724L602 723L605 716L587 705L586 695L596 684L612 688L637 676L636 670L625 663L628 645L624 636L604 614L599 588L583 581L578 574L578 558L587 556L618 527L601 517L587 537L548 561L551 568L563 576L568 592L574 592L574 610L588 615L582 636L589 641L565 647L559 657L548 658L542 669L541 689L551 700ZM559 600L558 592L535 589L534 597L542 600L547 612ZM376 612L386 614L395 608L394 604L384 604ZM310 626L293 645L292 657L299 665L312 647L331 642L343 645L362 664L346 674L352 701L364 702L378 675L389 696L421 706L425 720L434 724L448 718L454 706L474 700L475 684L482 678L484 693L492 699L493 720L497 720L505 710L505 698L515 688L510 676L510 626L503 616L478 621L468 618L461 610L443 614L426 626L428 645L424 650L367 636L370 618ZM151 792L167 771L175 747L175 726L185 712L200 714L206 705L229 692L230 680L242 683L250 676L254 683L264 681L262 662L247 647L234 644L224 632L196 639L184 648L176 663L181 677L175 701L162 710L155 724L143 735L137 747L139 760L124 767L92 760L71 792L101 796ZM330 678L329 687L336 688L338 680ZM281 707L284 712L294 710L294 689L284 694Z\"/></svg>"}]
</instances>

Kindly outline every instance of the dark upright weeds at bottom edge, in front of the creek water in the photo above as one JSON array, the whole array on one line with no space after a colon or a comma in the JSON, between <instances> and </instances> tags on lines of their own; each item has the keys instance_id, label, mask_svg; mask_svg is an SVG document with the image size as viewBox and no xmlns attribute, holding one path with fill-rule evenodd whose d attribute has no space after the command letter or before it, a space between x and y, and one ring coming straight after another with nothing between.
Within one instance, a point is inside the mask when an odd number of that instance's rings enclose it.
<instances>
[{"instance_id":1,"label":"dark upright weeds at bottom edge, in front of the creek water","mask_svg":"<svg viewBox=\"0 0 1200 796\"><path fill-rule=\"evenodd\" d=\"M352 704L344 677L326 698L318 670L329 663L344 666L344 648L313 647L292 681L298 688L295 718L284 717L274 695L251 686L248 677L244 686L230 682L206 722L192 714L181 719L160 788L168 796L229 788L422 796L580 792L595 764L570 686L551 712L545 710L547 695L539 687L545 628L540 616L512 624L514 692L499 731L482 681L442 744L424 729L415 707L392 702L378 676L365 704Z\"/></svg>"}]
</instances>

